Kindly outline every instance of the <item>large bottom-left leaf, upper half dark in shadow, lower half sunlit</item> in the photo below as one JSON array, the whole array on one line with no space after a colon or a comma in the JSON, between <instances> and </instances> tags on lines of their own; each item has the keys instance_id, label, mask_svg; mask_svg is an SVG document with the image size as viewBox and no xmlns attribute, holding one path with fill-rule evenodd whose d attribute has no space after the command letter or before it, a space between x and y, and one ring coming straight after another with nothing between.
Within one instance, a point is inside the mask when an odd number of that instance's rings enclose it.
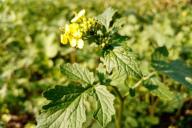
<instances>
[{"instance_id":1,"label":"large bottom-left leaf, upper half dark in shadow, lower half sunlit","mask_svg":"<svg viewBox=\"0 0 192 128\"><path fill-rule=\"evenodd\" d=\"M82 128L86 121L84 104L88 89L90 88L56 86L44 93L44 96L52 101L44 106L48 110L37 118L37 128ZM57 93L58 97L51 98L53 93Z\"/></svg>"}]
</instances>

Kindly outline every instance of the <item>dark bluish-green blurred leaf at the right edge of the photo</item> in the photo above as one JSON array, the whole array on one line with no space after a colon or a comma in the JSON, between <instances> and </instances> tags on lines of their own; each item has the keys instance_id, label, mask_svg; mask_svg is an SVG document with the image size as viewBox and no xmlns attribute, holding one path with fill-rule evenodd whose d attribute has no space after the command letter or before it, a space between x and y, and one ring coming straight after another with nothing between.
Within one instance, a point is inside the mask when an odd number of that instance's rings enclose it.
<instances>
[{"instance_id":1,"label":"dark bluish-green blurred leaf at the right edge of the photo","mask_svg":"<svg viewBox=\"0 0 192 128\"><path fill-rule=\"evenodd\" d=\"M188 81L192 77L192 69L188 68L181 60L174 60L171 63L166 62L168 54L165 46L157 48L152 55L153 67L156 68L157 71L165 73L172 79L192 89L192 83Z\"/></svg>"}]
</instances>

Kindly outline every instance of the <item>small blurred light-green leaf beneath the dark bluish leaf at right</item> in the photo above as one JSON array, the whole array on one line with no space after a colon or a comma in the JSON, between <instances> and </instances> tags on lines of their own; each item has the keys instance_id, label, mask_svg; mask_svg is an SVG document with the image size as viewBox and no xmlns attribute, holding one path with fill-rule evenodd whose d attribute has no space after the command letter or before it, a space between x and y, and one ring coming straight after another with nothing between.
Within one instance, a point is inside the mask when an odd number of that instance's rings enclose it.
<instances>
[{"instance_id":1,"label":"small blurred light-green leaf beneath the dark bluish leaf at right","mask_svg":"<svg viewBox=\"0 0 192 128\"><path fill-rule=\"evenodd\" d=\"M144 86L162 100L172 100L174 98L173 92L156 78L151 78Z\"/></svg>"}]
</instances>

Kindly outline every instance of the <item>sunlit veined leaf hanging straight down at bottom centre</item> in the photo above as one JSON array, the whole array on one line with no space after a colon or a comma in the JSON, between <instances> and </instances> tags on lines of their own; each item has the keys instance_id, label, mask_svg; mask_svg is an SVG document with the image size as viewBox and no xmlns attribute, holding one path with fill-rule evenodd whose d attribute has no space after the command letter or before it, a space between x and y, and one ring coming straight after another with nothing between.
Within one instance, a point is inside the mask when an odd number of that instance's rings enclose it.
<instances>
[{"instance_id":1,"label":"sunlit veined leaf hanging straight down at bottom centre","mask_svg":"<svg viewBox=\"0 0 192 128\"><path fill-rule=\"evenodd\" d=\"M95 87L95 94L98 109L94 114L94 118L105 127L111 121L112 115L115 114L113 106L115 97L102 85Z\"/></svg>"}]
</instances>

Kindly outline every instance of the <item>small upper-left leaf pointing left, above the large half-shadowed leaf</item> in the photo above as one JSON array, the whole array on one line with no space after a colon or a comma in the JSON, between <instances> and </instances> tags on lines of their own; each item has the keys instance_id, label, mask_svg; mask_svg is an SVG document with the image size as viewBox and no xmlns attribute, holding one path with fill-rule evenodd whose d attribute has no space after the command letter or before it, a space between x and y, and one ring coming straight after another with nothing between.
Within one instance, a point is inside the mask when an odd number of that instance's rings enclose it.
<instances>
[{"instance_id":1,"label":"small upper-left leaf pointing left, above the large half-shadowed leaf","mask_svg":"<svg viewBox=\"0 0 192 128\"><path fill-rule=\"evenodd\" d=\"M64 64L61 72L73 81L81 81L86 84L93 84L94 75L88 69L78 64Z\"/></svg>"}]
</instances>

